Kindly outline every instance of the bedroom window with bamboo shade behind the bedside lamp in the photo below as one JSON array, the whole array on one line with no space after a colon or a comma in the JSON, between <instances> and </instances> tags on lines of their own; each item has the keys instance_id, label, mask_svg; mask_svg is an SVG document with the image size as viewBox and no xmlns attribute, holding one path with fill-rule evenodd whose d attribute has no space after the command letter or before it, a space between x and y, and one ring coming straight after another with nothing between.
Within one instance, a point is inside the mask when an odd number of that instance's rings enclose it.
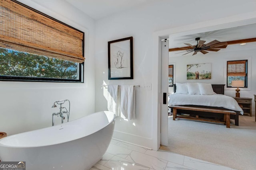
<instances>
[{"instance_id":1,"label":"bedroom window with bamboo shade behind the bedside lamp","mask_svg":"<svg viewBox=\"0 0 256 170\"><path fill-rule=\"evenodd\" d=\"M247 88L248 60L228 61L227 62L227 87L232 87L233 80L243 80L244 88Z\"/></svg>"}]
</instances>

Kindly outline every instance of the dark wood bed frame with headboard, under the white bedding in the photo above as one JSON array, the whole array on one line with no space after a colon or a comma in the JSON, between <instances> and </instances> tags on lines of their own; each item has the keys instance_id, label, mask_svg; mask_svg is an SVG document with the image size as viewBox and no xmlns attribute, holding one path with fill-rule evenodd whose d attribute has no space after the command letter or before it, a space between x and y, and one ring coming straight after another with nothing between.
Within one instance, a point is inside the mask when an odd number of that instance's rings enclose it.
<instances>
[{"instance_id":1,"label":"dark wood bed frame with headboard, under the white bedding","mask_svg":"<svg viewBox=\"0 0 256 170\"><path fill-rule=\"evenodd\" d=\"M224 86L225 86L225 84L212 84L212 89L217 94L224 94ZM173 87L174 87L174 92L176 92L176 84L174 84ZM198 106L198 105L185 105L185 106L228 110L224 107L210 107L210 106ZM239 125L239 114L240 114L240 112L239 111L235 111L235 112L236 112L236 115L230 115L230 119L234 119L235 120L235 125L238 126ZM224 119L223 114L209 113L209 112L203 112L203 111L194 111L194 110L178 109L177 114L196 115L196 116L200 116L200 117L207 117L207 118L210 118L210 119Z\"/></svg>"}]
</instances>

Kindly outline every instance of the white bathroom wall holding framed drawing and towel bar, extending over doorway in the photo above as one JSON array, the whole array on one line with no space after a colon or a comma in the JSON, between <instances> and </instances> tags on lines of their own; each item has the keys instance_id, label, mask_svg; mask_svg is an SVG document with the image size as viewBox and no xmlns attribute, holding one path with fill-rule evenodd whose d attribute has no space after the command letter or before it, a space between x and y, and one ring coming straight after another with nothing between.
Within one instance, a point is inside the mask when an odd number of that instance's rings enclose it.
<instances>
[{"instance_id":1,"label":"white bathroom wall holding framed drawing and towel bar, extending over doorway","mask_svg":"<svg viewBox=\"0 0 256 170\"><path fill-rule=\"evenodd\" d=\"M163 0L96 21L96 111L107 109L104 88L101 88L103 83L135 84L142 87L153 84L152 68L158 64L153 63L154 58L158 57L153 55L154 43L158 43L153 40L155 31L242 14L254 11L255 8L253 0L242 4L238 0L202 2L201 0L193 2ZM108 41L129 36L134 38L134 79L108 80ZM153 145L156 139L153 139L152 126L159 120L153 118L158 113L152 111L152 99L152 90L136 89L137 118L132 121L116 119L114 138L155 149Z\"/></svg>"}]
</instances>

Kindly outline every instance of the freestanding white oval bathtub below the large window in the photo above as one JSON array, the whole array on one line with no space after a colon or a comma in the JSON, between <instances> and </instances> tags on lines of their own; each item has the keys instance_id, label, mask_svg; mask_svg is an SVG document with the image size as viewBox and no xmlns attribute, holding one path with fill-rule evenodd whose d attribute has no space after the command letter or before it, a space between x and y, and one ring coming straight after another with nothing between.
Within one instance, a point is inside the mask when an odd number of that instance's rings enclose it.
<instances>
[{"instance_id":1,"label":"freestanding white oval bathtub below the large window","mask_svg":"<svg viewBox=\"0 0 256 170\"><path fill-rule=\"evenodd\" d=\"M110 111L0 139L0 160L26 161L26 170L88 170L106 152L114 131Z\"/></svg>"}]
</instances>

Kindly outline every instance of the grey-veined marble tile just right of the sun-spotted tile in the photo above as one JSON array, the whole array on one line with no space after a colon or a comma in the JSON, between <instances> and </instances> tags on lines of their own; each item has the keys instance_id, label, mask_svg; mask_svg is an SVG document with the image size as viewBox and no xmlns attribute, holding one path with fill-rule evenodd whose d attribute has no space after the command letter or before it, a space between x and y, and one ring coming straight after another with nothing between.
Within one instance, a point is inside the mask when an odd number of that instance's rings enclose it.
<instances>
[{"instance_id":1,"label":"grey-veined marble tile just right of the sun-spotted tile","mask_svg":"<svg viewBox=\"0 0 256 170\"><path fill-rule=\"evenodd\" d=\"M136 151L132 151L130 155L126 157L126 159L150 167L154 170L164 170L168 162L166 160Z\"/></svg>"}]
</instances>

